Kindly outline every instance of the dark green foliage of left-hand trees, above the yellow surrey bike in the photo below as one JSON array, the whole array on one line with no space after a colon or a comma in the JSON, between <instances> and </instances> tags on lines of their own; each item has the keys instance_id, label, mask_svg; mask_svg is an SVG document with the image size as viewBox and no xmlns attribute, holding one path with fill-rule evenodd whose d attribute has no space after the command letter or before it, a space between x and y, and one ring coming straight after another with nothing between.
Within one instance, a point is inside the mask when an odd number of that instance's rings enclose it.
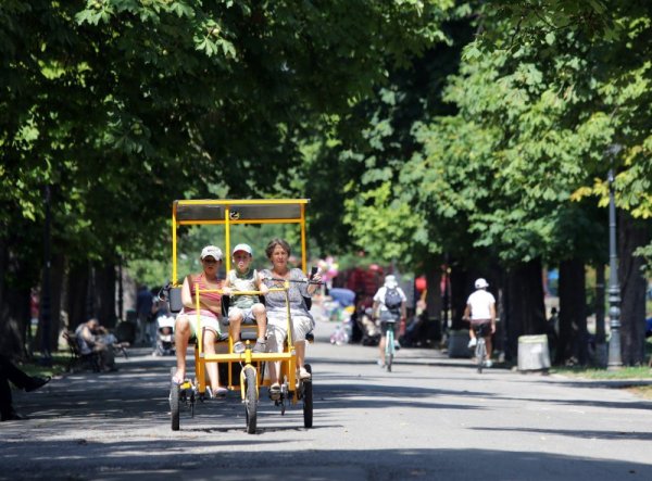
<instances>
[{"instance_id":1,"label":"dark green foliage of left-hand trees, above the yellow surrey bike","mask_svg":"<svg viewBox=\"0 0 652 481\"><path fill-rule=\"evenodd\" d=\"M46 183L71 263L162 251L174 199L302 197L306 126L385 81L386 53L423 51L451 3L3 2L0 236L41 239Z\"/></svg>"}]
</instances>

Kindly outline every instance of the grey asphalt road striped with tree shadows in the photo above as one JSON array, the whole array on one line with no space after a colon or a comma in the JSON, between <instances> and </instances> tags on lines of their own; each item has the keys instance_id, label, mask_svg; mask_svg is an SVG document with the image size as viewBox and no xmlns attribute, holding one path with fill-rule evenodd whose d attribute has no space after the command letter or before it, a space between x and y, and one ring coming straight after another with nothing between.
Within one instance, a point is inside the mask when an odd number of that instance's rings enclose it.
<instances>
[{"instance_id":1,"label":"grey asphalt road striped with tree shadows","mask_svg":"<svg viewBox=\"0 0 652 481\"><path fill-rule=\"evenodd\" d=\"M651 480L652 402L604 382L490 369L434 350L309 349L314 428L265 393L244 432L239 393L181 413L173 432L174 359L130 350L120 371L54 379L15 394L28 420L0 423L0 480Z\"/></svg>"}]
</instances>

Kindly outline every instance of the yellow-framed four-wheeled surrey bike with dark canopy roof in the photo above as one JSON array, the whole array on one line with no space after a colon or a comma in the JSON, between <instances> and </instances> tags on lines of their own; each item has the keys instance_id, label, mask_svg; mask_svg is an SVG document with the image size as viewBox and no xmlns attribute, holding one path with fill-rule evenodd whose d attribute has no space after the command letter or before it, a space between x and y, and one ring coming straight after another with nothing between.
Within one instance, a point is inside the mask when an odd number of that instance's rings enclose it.
<instances>
[{"instance_id":1,"label":"yellow-framed four-wheeled surrey bike with dark canopy roof","mask_svg":"<svg viewBox=\"0 0 652 481\"><path fill-rule=\"evenodd\" d=\"M297 224L301 229L301 261L306 266L305 245L305 205L309 200L278 199L278 200L178 200L172 207L172 282L170 286L168 301L171 312L177 313L181 309L180 289L177 280L177 229L180 226L196 225L223 225L225 232L225 260L226 271L230 270L230 230L234 225L244 224ZM308 277L308 276L306 276ZM208 397L205 365L217 363L220 379L229 391L240 391L242 404L246 410L247 432L255 433L256 409L261 387L269 387L269 379L265 378L265 364L279 362L281 384L280 395L273 398L274 404L280 407L285 415L286 405L296 405L303 402L303 426L313 426L313 385L312 379L302 380L297 375L297 356L292 341L290 308L288 302L289 281L285 281L283 288L269 289L269 291L283 291L286 295L288 339L286 347L281 353L253 353L251 341L256 338L255 325L242 325L241 340L247 344L243 353L234 352L234 340L228 333L223 333L216 341L217 354L206 354L203 351L202 330L200 317L197 315L197 340L195 343L195 380L186 379L183 384L171 382L170 407L172 415L172 430L179 430L181 406L190 409L195 415L197 401L203 402ZM199 294L201 292L221 292L220 290L200 290L196 284L197 312L199 313ZM234 292L239 295L259 295L259 291ZM226 298L225 298L226 299ZM223 309L224 309L223 302ZM226 314L223 312L223 315ZM311 339L309 339L310 341ZM311 366L305 369L312 372ZM172 375L176 367L172 368Z\"/></svg>"}]
</instances>

